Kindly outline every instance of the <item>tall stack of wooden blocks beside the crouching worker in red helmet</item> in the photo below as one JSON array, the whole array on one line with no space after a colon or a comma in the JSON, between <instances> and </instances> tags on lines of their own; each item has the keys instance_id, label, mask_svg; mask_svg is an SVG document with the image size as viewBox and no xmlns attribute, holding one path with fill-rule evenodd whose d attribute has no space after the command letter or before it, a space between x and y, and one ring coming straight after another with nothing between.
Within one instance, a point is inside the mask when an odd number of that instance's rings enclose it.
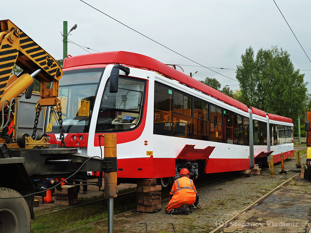
<instances>
[{"instance_id":1,"label":"tall stack of wooden blocks beside the crouching worker in red helmet","mask_svg":"<svg viewBox=\"0 0 311 233\"><path fill-rule=\"evenodd\" d=\"M137 211L156 213L161 210L161 185L156 179L137 181Z\"/></svg>"}]
</instances>

